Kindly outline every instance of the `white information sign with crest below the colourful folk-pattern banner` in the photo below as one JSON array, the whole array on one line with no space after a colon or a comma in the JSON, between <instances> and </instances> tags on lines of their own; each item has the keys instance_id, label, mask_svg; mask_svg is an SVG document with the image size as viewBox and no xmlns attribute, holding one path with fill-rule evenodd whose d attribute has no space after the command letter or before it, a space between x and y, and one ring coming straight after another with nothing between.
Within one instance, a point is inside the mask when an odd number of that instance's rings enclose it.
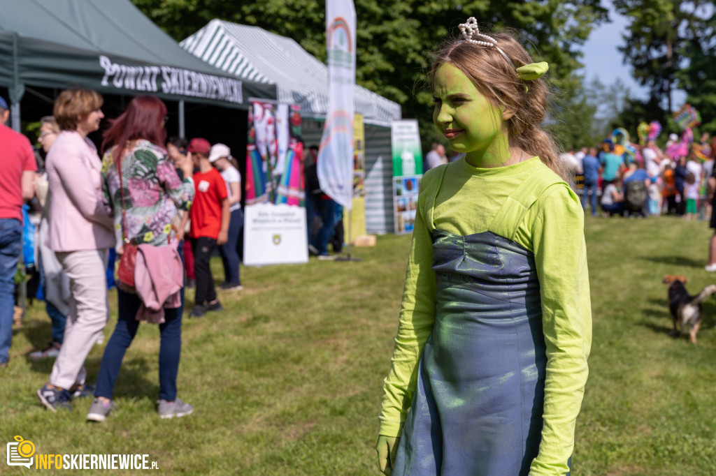
<instances>
[{"instance_id":1,"label":"white information sign with crest below the colourful folk-pattern banner","mask_svg":"<svg viewBox=\"0 0 716 476\"><path fill-rule=\"evenodd\" d=\"M307 263L306 209L262 203L244 209L243 264Z\"/></svg>"}]
</instances>

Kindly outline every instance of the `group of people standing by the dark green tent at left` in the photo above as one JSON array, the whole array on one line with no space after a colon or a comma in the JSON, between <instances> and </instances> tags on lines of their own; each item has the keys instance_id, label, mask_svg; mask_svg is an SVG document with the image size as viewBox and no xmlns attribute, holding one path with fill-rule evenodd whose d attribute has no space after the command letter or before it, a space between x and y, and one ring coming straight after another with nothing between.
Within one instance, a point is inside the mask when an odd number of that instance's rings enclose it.
<instances>
[{"instance_id":1,"label":"group of people standing by the dark green tent at left","mask_svg":"<svg viewBox=\"0 0 716 476\"><path fill-rule=\"evenodd\" d=\"M104 421L115 405L125 351L146 321L160 332L159 415L189 415L193 407L177 397L176 387L184 288L196 291L190 317L223 309L209 267L218 247L225 276L219 287L242 289L241 174L224 144L167 139L167 108L154 96L136 96L110 120L100 158L88 134L100 129L102 104L95 91L62 91L53 116L40 122L42 161L29 139L5 125L9 109L0 97L0 368L9 364L23 207L37 198L40 287L52 342L28 357L55 358L37 391L40 402L56 412L71 409L75 397L94 395L87 420ZM117 324L97 384L89 385L84 361L110 317L115 254Z\"/></svg>"}]
</instances>

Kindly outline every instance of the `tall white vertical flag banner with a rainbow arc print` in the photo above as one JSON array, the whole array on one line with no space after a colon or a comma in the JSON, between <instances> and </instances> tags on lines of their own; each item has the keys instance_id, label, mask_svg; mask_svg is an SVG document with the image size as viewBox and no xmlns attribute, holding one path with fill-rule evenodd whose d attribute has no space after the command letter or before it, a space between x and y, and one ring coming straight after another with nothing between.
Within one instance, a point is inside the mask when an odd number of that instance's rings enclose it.
<instances>
[{"instance_id":1,"label":"tall white vertical flag banner with a rainbow arc print","mask_svg":"<svg viewBox=\"0 0 716 476\"><path fill-rule=\"evenodd\" d=\"M326 0L329 106L318 152L321 190L353 206L353 95L356 82L356 11L352 0Z\"/></svg>"}]
</instances>

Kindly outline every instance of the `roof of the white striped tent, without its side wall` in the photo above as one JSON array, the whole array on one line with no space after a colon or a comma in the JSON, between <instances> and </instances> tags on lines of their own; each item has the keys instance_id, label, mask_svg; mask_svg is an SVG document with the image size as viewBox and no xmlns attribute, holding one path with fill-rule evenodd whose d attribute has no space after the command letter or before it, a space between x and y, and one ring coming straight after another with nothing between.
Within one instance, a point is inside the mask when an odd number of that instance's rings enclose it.
<instances>
[{"instance_id":1,"label":"roof of the white striped tent, without its side wall","mask_svg":"<svg viewBox=\"0 0 716 476\"><path fill-rule=\"evenodd\" d=\"M293 39L258 26L215 19L180 45L218 69L276 84L278 101L299 104L301 116L326 116L328 69ZM355 89L355 109L366 124L390 127L391 121L401 118L400 104L362 86Z\"/></svg>"}]
</instances>

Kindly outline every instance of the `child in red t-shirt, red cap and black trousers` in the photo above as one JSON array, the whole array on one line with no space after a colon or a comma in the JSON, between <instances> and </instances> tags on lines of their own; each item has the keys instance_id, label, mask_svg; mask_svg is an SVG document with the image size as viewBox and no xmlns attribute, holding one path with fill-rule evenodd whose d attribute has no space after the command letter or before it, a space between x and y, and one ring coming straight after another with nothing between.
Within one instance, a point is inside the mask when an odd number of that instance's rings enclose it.
<instances>
[{"instance_id":1,"label":"child in red t-shirt, red cap and black trousers","mask_svg":"<svg viewBox=\"0 0 716 476\"><path fill-rule=\"evenodd\" d=\"M214 279L209 261L217 244L228 238L228 192L221 174L209 162L211 144L208 140L191 139L186 148L187 157L198 167L194 174L194 202L191 206L191 244L194 252L196 294L189 317L202 317L207 311L221 311L216 299Z\"/></svg>"}]
</instances>

